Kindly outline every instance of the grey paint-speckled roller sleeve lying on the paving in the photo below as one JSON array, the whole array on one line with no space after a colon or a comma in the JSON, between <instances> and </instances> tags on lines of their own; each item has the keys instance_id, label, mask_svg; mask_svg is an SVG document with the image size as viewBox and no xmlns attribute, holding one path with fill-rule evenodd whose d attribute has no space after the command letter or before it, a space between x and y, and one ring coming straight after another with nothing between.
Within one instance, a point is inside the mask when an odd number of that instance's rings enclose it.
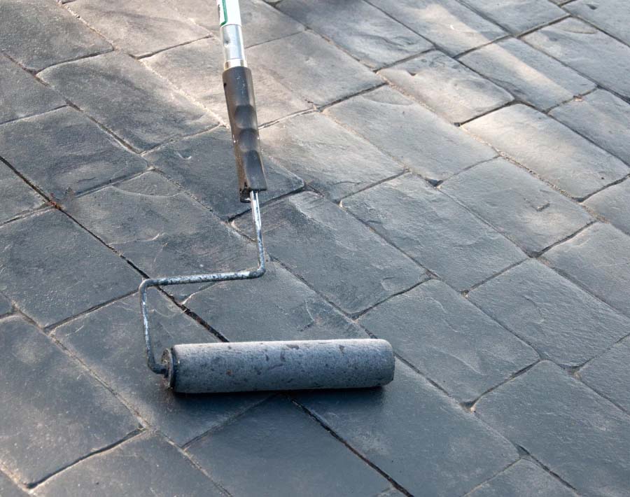
<instances>
[{"instance_id":1,"label":"grey paint-speckled roller sleeve lying on the paving","mask_svg":"<svg viewBox=\"0 0 630 497\"><path fill-rule=\"evenodd\" d=\"M379 339L181 344L164 351L177 392L366 388L393 379L394 356Z\"/></svg>"}]
</instances>

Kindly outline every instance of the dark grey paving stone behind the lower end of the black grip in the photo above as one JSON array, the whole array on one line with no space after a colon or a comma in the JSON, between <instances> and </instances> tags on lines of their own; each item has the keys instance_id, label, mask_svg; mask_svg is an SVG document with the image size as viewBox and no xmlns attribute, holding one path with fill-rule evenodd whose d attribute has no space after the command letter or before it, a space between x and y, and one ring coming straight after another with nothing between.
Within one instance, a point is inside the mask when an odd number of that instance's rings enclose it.
<instances>
[{"instance_id":1,"label":"dark grey paving stone behind the lower end of the black grip","mask_svg":"<svg viewBox=\"0 0 630 497\"><path fill-rule=\"evenodd\" d=\"M264 144L263 144L264 145ZM239 200L239 181L230 130L216 128L211 132L176 141L145 156L156 169L183 186L223 219L249 210ZM304 181L267 157L267 191L260 201L286 195L304 186Z\"/></svg>"}]
</instances>

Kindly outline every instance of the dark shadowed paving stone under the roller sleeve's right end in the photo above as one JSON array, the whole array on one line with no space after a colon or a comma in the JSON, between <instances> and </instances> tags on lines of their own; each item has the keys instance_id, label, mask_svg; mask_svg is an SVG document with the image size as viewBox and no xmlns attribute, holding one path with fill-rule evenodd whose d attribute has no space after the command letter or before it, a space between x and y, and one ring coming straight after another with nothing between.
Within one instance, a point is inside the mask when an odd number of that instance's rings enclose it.
<instances>
[{"instance_id":1,"label":"dark shadowed paving stone under the roller sleeve's right end","mask_svg":"<svg viewBox=\"0 0 630 497\"><path fill-rule=\"evenodd\" d=\"M397 362L383 388L298 400L413 495L462 495L517 459L503 437Z\"/></svg>"}]
</instances>

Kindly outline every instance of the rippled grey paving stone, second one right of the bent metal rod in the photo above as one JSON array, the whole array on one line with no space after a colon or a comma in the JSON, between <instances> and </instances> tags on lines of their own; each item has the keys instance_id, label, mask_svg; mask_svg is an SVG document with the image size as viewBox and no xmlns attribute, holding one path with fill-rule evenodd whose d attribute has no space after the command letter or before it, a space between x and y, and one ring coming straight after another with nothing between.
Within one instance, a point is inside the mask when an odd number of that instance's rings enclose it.
<instances>
[{"instance_id":1,"label":"rippled grey paving stone, second one right of the bent metal rod","mask_svg":"<svg viewBox=\"0 0 630 497\"><path fill-rule=\"evenodd\" d=\"M411 174L353 195L343 207L460 291L525 258L503 235Z\"/></svg>"}]
</instances>

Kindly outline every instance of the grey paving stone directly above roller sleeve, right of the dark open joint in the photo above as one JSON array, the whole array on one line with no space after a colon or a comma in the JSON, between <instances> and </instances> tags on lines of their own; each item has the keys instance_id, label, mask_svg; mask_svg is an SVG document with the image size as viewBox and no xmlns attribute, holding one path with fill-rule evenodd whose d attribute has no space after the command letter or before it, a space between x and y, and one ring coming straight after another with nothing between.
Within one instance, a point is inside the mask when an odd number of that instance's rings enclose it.
<instances>
[{"instance_id":1,"label":"grey paving stone directly above roller sleeve, right of the dark open joint","mask_svg":"<svg viewBox=\"0 0 630 497\"><path fill-rule=\"evenodd\" d=\"M230 342L367 338L365 331L276 262L267 264L261 278L223 281L195 293L186 307Z\"/></svg>"}]
</instances>

